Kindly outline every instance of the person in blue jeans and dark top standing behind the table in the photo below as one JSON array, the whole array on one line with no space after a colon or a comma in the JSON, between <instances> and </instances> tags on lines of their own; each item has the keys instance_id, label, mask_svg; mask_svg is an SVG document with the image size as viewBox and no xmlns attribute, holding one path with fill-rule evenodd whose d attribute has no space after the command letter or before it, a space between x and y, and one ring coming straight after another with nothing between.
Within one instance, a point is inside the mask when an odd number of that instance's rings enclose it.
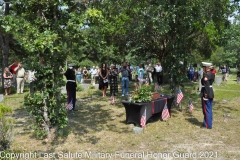
<instances>
[{"instance_id":1,"label":"person in blue jeans and dark top standing behind the table","mask_svg":"<svg viewBox=\"0 0 240 160\"><path fill-rule=\"evenodd\" d=\"M124 62L123 63L123 66L121 67L120 71L121 74L122 74L122 79L121 79L121 82L122 82L122 97L124 96L124 94L128 94L128 88L129 88L129 73L131 72L130 71L130 68L128 67L127 65L127 62Z\"/></svg>"}]
</instances>

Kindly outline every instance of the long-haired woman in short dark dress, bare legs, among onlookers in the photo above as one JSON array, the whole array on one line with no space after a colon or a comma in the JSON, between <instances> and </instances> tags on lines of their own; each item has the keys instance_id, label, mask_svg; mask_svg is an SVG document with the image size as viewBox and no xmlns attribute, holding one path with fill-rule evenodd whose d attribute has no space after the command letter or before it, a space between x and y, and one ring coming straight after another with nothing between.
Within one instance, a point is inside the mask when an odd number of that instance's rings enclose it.
<instances>
[{"instance_id":1,"label":"long-haired woman in short dark dress, bare legs, among onlookers","mask_svg":"<svg viewBox=\"0 0 240 160\"><path fill-rule=\"evenodd\" d=\"M108 88L108 75L109 71L107 65L103 63L99 71L99 89L102 91L103 97L106 97L106 92Z\"/></svg>"}]
</instances>

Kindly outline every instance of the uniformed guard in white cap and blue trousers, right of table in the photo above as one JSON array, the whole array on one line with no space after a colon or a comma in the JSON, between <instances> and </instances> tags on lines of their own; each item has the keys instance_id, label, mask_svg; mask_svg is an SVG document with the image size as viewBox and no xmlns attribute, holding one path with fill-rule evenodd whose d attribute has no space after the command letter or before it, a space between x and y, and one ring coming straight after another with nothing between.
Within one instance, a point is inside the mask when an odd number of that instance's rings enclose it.
<instances>
[{"instance_id":1,"label":"uniformed guard in white cap and blue trousers, right of table","mask_svg":"<svg viewBox=\"0 0 240 160\"><path fill-rule=\"evenodd\" d=\"M201 100L202 100L202 111L204 115L203 126L207 129L212 129L212 104L213 104L213 88L212 83L214 81L214 75L211 72L211 63L202 62L203 66L203 78L201 79Z\"/></svg>"}]
</instances>

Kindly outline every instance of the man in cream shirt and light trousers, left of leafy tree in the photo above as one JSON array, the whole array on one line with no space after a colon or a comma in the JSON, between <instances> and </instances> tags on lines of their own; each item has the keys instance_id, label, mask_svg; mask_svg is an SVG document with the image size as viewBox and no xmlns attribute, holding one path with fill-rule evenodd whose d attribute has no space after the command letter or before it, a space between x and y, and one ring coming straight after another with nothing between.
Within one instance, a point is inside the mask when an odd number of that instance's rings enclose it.
<instances>
[{"instance_id":1,"label":"man in cream shirt and light trousers, left of leafy tree","mask_svg":"<svg viewBox=\"0 0 240 160\"><path fill-rule=\"evenodd\" d=\"M18 66L14 69L16 71L16 80L17 80L17 93L23 93L24 90L24 82L26 79L25 69L22 67L22 63L18 62Z\"/></svg>"}]
</instances>

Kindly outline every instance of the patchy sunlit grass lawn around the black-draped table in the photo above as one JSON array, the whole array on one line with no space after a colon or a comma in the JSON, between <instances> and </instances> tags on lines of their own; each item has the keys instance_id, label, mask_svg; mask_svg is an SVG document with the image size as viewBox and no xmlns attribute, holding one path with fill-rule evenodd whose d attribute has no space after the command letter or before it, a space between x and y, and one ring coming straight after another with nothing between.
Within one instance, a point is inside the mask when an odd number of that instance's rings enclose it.
<instances>
[{"instance_id":1,"label":"patchy sunlit grass lawn around the black-draped table","mask_svg":"<svg viewBox=\"0 0 240 160\"><path fill-rule=\"evenodd\" d=\"M179 159L240 159L240 85L235 79L233 74L226 85L213 85L211 130L200 128L201 101L198 84L192 82L182 88L183 110L173 106L171 118L148 122L141 134L134 134L133 126L125 123L122 97L115 97L116 103L111 105L110 97L103 98L101 91L95 89L91 96L89 91L77 93L79 111L69 112L68 127L52 134L49 140L37 140L32 129L34 118L22 106L24 94L14 94L5 97L3 102L14 110L10 116L16 120L11 152L36 152L39 159L50 159L47 156L54 154L55 158L74 159L68 157L69 153L81 155L78 159L97 159L100 155L106 156L102 159L174 159L179 156L183 157ZM170 93L168 85L163 86L162 93ZM189 99L195 107L192 114L188 112Z\"/></svg>"}]
</instances>

